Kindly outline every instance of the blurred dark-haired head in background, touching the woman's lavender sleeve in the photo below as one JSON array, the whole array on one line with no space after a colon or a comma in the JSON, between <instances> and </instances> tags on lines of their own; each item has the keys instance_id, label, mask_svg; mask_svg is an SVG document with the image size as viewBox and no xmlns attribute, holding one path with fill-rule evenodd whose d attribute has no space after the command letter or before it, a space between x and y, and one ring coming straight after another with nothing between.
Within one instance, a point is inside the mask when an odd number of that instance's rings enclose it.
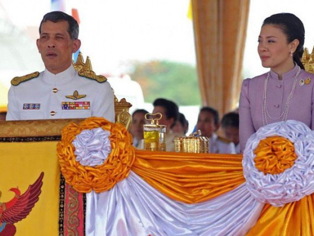
<instances>
[{"instance_id":1,"label":"blurred dark-haired head in background, touching the woman's lavender sleeve","mask_svg":"<svg viewBox=\"0 0 314 236\"><path fill-rule=\"evenodd\" d=\"M235 112L225 114L221 119L221 128L225 137L235 144L236 153L240 153L239 114Z\"/></svg>"}]
</instances>

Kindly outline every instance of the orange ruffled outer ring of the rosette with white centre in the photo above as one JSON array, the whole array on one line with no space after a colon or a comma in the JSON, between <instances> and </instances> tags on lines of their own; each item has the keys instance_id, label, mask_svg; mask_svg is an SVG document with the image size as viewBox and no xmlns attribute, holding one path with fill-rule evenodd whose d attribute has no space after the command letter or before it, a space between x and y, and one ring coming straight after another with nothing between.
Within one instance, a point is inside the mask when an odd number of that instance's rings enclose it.
<instances>
[{"instance_id":1,"label":"orange ruffled outer ring of the rosette with white centre","mask_svg":"<svg viewBox=\"0 0 314 236\"><path fill-rule=\"evenodd\" d=\"M111 153L101 165L83 166L76 161L72 142L82 130L99 127L110 132ZM135 148L131 135L123 125L111 123L105 118L91 117L79 124L67 125L61 135L57 145L61 173L65 181L78 192L104 192L128 177L135 159Z\"/></svg>"}]
</instances>

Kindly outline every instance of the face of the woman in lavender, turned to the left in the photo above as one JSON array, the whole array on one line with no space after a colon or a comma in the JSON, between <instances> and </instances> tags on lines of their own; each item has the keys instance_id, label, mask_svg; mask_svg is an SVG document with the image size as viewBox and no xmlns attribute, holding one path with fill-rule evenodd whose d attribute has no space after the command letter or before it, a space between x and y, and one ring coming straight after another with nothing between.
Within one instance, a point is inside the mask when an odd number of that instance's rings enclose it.
<instances>
[{"instance_id":1,"label":"face of the woman in lavender, turned to the left","mask_svg":"<svg viewBox=\"0 0 314 236\"><path fill-rule=\"evenodd\" d=\"M282 29L275 25L264 25L258 42L258 52L263 67L270 67L273 71L281 73L292 69L294 63L290 53L291 51L294 53L298 40L288 43L287 35Z\"/></svg>"}]
</instances>

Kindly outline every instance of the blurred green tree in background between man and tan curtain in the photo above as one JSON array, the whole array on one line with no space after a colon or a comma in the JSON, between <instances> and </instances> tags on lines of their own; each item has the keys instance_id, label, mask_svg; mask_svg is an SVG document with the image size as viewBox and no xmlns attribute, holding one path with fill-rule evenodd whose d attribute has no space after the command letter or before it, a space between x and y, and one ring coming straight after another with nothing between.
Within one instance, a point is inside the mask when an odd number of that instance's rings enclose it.
<instances>
[{"instance_id":1,"label":"blurred green tree in background between man and tan curtain","mask_svg":"<svg viewBox=\"0 0 314 236\"><path fill-rule=\"evenodd\" d=\"M197 73L194 66L166 60L134 62L131 78L143 89L145 102L158 97L175 101L179 105L201 103Z\"/></svg>"}]
</instances>

